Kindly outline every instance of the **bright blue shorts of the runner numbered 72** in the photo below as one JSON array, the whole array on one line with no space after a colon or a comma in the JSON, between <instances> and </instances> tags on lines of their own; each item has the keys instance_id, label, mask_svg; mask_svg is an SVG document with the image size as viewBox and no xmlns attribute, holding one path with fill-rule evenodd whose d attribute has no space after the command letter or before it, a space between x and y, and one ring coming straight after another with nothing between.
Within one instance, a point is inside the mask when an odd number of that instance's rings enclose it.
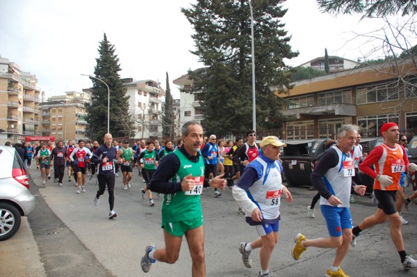
<instances>
[{"instance_id":1,"label":"bright blue shorts of the runner numbered 72","mask_svg":"<svg viewBox=\"0 0 417 277\"><path fill-rule=\"evenodd\" d=\"M320 209L332 237L341 237L343 229L352 229L352 216L348 207L320 205Z\"/></svg>"}]
</instances>

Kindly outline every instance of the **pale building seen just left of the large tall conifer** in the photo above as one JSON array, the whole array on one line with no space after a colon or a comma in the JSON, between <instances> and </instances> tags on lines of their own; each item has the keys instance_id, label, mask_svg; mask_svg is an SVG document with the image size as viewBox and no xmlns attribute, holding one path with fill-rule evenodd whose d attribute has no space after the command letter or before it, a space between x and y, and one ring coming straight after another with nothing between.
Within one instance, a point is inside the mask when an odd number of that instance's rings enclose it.
<instances>
[{"instance_id":1,"label":"pale building seen just left of the large tall conifer","mask_svg":"<svg viewBox=\"0 0 417 277\"><path fill-rule=\"evenodd\" d=\"M199 68L197 70L204 70L204 68ZM188 90L193 85L193 81L190 80L188 74L185 74L175 79L174 81L172 81L172 83L179 86L181 90ZM182 123L190 121L190 120L195 120L199 123L202 122L202 120L204 119L204 116L199 109L200 103L198 100L196 100L195 93L185 93L181 91L180 105L181 105L181 120L183 121Z\"/></svg>"}]
</instances>

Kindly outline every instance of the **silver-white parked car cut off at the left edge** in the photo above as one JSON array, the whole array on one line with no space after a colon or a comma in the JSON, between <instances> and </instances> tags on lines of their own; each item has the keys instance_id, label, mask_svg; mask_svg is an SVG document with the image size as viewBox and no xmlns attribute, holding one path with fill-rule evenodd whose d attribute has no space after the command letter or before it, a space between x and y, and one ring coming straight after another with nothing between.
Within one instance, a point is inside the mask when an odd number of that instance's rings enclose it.
<instances>
[{"instance_id":1,"label":"silver-white parked car cut off at the left edge","mask_svg":"<svg viewBox=\"0 0 417 277\"><path fill-rule=\"evenodd\" d=\"M13 147L0 145L0 241L19 230L22 216L35 208L22 159Z\"/></svg>"}]
</instances>

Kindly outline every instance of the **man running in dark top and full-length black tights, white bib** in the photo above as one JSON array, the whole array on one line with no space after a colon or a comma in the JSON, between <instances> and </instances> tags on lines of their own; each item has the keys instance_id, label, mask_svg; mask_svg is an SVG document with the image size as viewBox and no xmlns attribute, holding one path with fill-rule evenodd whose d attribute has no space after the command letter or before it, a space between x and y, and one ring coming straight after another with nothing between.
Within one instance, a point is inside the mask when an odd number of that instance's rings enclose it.
<instances>
[{"instance_id":1,"label":"man running in dark top and full-length black tights, white bib","mask_svg":"<svg viewBox=\"0 0 417 277\"><path fill-rule=\"evenodd\" d=\"M110 212L109 219L114 219L117 214L114 211L115 205L115 164L117 163L117 149L112 145L113 137L111 134L104 135L104 145L101 145L92 156L91 161L99 165L97 179L99 180L99 190L94 198L94 205L99 205L99 198L108 191L108 205Z\"/></svg>"}]
</instances>

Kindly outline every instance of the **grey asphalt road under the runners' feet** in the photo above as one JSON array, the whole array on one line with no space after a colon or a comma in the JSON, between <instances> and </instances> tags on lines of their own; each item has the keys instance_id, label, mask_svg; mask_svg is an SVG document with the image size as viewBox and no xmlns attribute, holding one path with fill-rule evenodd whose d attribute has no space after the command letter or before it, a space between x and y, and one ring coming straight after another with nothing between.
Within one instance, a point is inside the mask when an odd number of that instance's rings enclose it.
<instances>
[{"instance_id":1,"label":"grey asphalt road under the runners' feet","mask_svg":"<svg viewBox=\"0 0 417 277\"><path fill-rule=\"evenodd\" d=\"M86 192L76 194L74 181L64 180L64 187L51 181L42 186L40 173L31 170L33 193L37 194L35 212L28 217L40 264L47 276L190 276L191 260L186 240L176 264L156 262L151 271L144 274L140 269L140 258L145 246L154 242L163 246L161 230L162 197L154 196L156 205L149 207L142 200L140 188L142 178L134 171L132 188L124 191L121 177L116 179L115 212L117 218L108 219L108 194L101 196L98 207L93 204L97 186L95 179L87 181ZM316 191L291 187L293 204L281 204L279 242L272 254L270 271L275 276L324 276L332 265L334 249L309 248L300 260L291 257L293 239L297 232L306 237L327 237L327 228L320 211L316 219L306 214L306 206ZM411 192L407 188L408 192ZM238 252L240 242L250 242L257 236L256 230L245 223L237 212L237 205L226 189L220 198L213 198L213 189L202 195L204 211L205 251L207 276L257 276L259 250L252 252L253 267L243 266ZM354 223L375 212L368 197L356 196L357 203L351 205ZM318 206L317 206L318 207ZM404 218L410 221L402 228L406 250L417 252L414 239L417 225L417 205L411 205ZM53 211L53 212L52 212ZM18 239L22 230L8 242ZM30 235L28 240L33 239ZM34 243L35 242L35 243ZM38 247L36 247L38 246ZM1 260L3 244L1 247ZM26 251L22 253L22 259ZM36 259L35 259L36 260ZM342 264L350 276L417 276L417 271L403 271L400 258L389 236L389 223L366 230L357 239L357 247L351 248ZM41 271L22 269L14 276L44 276ZM26 275L25 275L26 274ZM0 274L1 275L1 274ZM13 276L13 275L5 275Z\"/></svg>"}]
</instances>

